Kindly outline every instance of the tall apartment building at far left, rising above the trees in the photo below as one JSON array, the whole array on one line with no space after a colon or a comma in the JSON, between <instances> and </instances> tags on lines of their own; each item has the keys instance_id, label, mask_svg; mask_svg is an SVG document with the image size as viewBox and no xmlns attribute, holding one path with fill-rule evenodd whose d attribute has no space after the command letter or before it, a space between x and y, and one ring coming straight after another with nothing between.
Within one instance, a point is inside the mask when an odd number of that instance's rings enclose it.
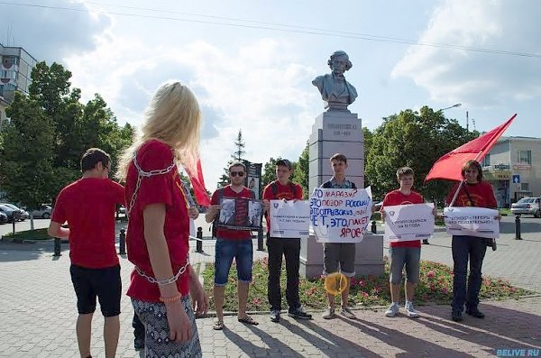
<instances>
[{"instance_id":1,"label":"tall apartment building at far left, rising above the trees","mask_svg":"<svg viewBox=\"0 0 541 358\"><path fill-rule=\"evenodd\" d=\"M21 47L0 44L0 130L7 120L5 107L13 102L15 92L28 94L32 69L37 62Z\"/></svg>"}]
</instances>

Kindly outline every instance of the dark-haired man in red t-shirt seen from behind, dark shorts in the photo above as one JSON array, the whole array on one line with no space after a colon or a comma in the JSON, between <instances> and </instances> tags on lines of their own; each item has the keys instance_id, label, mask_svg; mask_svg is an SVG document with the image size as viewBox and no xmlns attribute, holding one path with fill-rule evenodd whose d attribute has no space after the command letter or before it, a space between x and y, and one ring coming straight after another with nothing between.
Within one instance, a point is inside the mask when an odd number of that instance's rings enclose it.
<instances>
[{"instance_id":1,"label":"dark-haired man in red t-shirt seen from behind, dark shorts","mask_svg":"<svg viewBox=\"0 0 541 358\"><path fill-rule=\"evenodd\" d=\"M69 239L71 280L77 294L77 339L81 357L89 357L92 316L99 298L105 317L105 356L114 357L120 331L122 282L115 251L115 208L124 187L108 179L109 154L91 148L81 159L81 179L60 191L50 219L50 236ZM61 225L68 222L69 228Z\"/></svg>"}]
</instances>

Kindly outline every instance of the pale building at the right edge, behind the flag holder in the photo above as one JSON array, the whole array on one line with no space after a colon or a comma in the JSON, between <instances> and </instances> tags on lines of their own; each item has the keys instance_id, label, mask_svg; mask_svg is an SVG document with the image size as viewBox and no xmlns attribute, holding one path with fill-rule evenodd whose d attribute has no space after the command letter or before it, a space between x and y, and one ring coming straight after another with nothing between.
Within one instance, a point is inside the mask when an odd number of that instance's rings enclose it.
<instances>
[{"instance_id":1,"label":"pale building at the right edge, behind the flag holder","mask_svg":"<svg viewBox=\"0 0 541 358\"><path fill-rule=\"evenodd\" d=\"M541 138L501 137L481 162L498 207L521 197L541 197Z\"/></svg>"}]
</instances>

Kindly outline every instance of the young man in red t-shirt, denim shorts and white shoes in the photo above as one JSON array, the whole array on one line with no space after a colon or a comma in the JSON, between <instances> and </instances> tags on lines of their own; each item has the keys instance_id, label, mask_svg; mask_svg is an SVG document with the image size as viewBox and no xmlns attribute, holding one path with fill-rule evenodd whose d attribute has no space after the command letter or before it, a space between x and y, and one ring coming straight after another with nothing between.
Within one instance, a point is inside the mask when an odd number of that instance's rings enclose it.
<instances>
[{"instance_id":1,"label":"young man in red t-shirt, denim shorts and white shoes","mask_svg":"<svg viewBox=\"0 0 541 358\"><path fill-rule=\"evenodd\" d=\"M381 218L385 219L385 207L406 204L423 204L425 199L413 187L413 170L402 167L397 170L397 179L400 188L390 191L383 199L381 205ZM403 241L390 243L390 307L385 311L385 316L394 317L399 313L400 284L402 283L402 270L406 267L406 312L408 317L418 317L417 310L413 307L413 294L419 281L419 262L421 260L421 241Z\"/></svg>"}]
</instances>

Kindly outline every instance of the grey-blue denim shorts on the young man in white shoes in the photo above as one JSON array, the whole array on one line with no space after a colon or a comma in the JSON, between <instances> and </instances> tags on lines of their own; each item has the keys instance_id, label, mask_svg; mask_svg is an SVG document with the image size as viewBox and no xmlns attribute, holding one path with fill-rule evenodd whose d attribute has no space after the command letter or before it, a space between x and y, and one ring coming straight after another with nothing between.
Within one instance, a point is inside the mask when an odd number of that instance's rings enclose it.
<instances>
[{"instance_id":1,"label":"grey-blue denim shorts on the young man in white shoes","mask_svg":"<svg viewBox=\"0 0 541 358\"><path fill-rule=\"evenodd\" d=\"M419 282L419 262L421 249L419 247L390 247L390 277L392 284L402 282L402 270L406 266L406 277L410 283Z\"/></svg>"}]
</instances>

